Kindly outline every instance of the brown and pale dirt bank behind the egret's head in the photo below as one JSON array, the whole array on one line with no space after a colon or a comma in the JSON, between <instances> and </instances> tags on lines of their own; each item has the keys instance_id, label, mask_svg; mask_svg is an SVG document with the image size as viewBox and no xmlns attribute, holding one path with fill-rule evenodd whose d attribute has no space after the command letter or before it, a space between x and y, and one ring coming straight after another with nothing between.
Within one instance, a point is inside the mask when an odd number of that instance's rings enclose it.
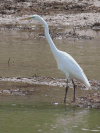
<instances>
[{"instance_id":1,"label":"brown and pale dirt bank behind the egret's head","mask_svg":"<svg viewBox=\"0 0 100 133\"><path fill-rule=\"evenodd\" d=\"M92 39L93 35L80 34L83 29L100 29L100 1L87 0L8 0L0 2L0 27L1 29L31 29L34 21L20 21L20 18L32 14L41 15L49 26L68 29L63 32L53 32L52 37L74 37L78 39ZM69 30L70 29L70 30Z\"/></svg>"}]
</instances>

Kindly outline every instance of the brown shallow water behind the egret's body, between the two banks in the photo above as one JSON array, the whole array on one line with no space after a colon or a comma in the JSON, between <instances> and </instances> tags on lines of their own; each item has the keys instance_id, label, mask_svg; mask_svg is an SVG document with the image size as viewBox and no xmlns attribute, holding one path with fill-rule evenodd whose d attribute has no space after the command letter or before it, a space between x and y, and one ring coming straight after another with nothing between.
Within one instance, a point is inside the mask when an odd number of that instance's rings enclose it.
<instances>
[{"instance_id":1,"label":"brown shallow water behind the egret's body, between the two banks","mask_svg":"<svg viewBox=\"0 0 100 133\"><path fill-rule=\"evenodd\" d=\"M65 77L58 69L48 42L36 38L41 33L18 30L0 31L0 76L33 75ZM100 79L100 39L53 39L57 48L71 54L89 79Z\"/></svg>"}]
</instances>

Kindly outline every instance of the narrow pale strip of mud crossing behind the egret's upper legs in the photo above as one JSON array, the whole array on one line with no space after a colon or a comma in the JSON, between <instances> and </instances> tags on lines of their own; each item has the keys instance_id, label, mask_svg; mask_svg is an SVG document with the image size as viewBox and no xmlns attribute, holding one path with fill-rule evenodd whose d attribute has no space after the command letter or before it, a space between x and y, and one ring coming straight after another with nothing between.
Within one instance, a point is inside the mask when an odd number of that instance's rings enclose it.
<instances>
[{"instance_id":1,"label":"narrow pale strip of mud crossing behind the egret's upper legs","mask_svg":"<svg viewBox=\"0 0 100 133\"><path fill-rule=\"evenodd\" d=\"M49 85L49 86L59 86L59 87L66 87L66 79L58 79L58 78L50 78L50 77L12 77L12 78L6 78L6 77L2 77L0 78L0 81L9 81L9 82L24 82L24 83L29 83L29 84L38 84L38 85ZM77 88L79 89L86 89L86 87L76 81L75 84L77 85ZM91 79L89 80L90 84L91 84L91 89L92 90L100 90L100 81L99 80L95 80L95 79ZM71 82L71 80L69 80L69 88L73 88L73 84Z\"/></svg>"}]
</instances>

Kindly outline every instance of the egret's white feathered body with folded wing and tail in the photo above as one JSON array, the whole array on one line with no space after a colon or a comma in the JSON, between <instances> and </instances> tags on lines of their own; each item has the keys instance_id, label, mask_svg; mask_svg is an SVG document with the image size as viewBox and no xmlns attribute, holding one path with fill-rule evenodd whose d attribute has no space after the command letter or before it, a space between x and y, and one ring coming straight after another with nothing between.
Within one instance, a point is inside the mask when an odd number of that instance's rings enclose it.
<instances>
[{"instance_id":1,"label":"egret's white feathered body with folded wing and tail","mask_svg":"<svg viewBox=\"0 0 100 133\"><path fill-rule=\"evenodd\" d=\"M66 52L60 51L57 57L57 64L58 68L66 75L67 78L77 79L89 87L87 77L72 56Z\"/></svg>"}]
</instances>

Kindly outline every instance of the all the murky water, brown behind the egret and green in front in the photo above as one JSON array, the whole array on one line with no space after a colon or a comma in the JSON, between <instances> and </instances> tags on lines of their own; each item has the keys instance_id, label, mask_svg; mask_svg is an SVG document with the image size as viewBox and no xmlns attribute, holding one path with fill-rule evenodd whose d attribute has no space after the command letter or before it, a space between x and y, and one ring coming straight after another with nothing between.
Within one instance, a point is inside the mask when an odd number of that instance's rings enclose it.
<instances>
[{"instance_id":1,"label":"all the murky water, brown behind the egret and green in front","mask_svg":"<svg viewBox=\"0 0 100 133\"><path fill-rule=\"evenodd\" d=\"M0 31L0 76L29 77L34 74L65 77L56 66L45 39L37 32ZM100 39L54 39L56 46L71 54L90 79L100 79ZM10 85L9 85L10 84ZM1 133L90 133L100 132L100 110L78 109L63 104L64 88L0 82L0 90L33 90L29 95L0 94ZM81 90L82 91L82 90ZM86 92L87 93L87 92ZM76 91L76 95L83 92ZM67 103L73 99L68 91ZM59 103L57 106L53 103Z\"/></svg>"}]
</instances>

